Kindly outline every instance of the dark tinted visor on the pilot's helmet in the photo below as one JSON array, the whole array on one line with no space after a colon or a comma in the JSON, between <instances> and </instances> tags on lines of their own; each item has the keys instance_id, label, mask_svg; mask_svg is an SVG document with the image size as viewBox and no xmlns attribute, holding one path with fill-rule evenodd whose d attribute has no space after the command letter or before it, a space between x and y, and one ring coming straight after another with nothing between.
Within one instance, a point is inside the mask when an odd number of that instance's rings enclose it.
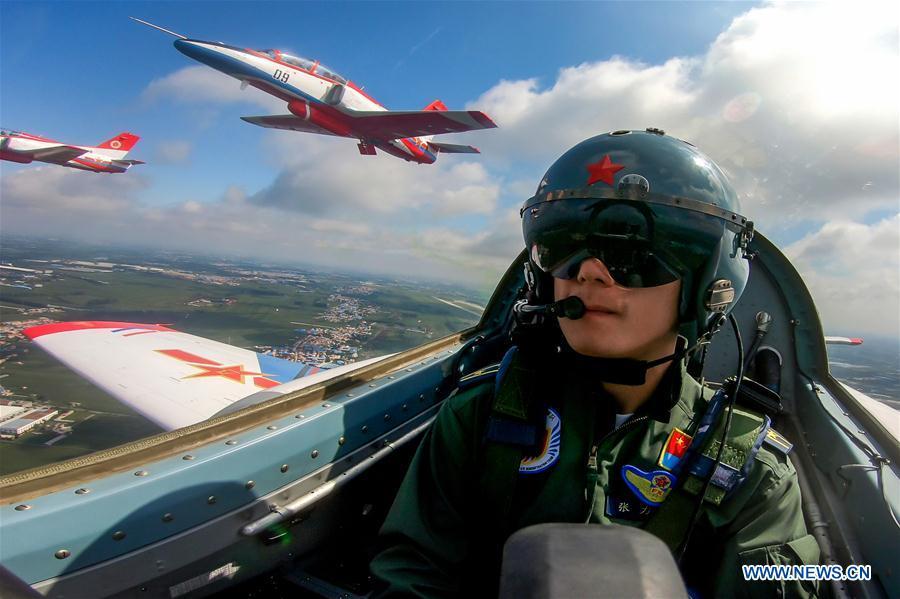
<instances>
[{"instance_id":1,"label":"dark tinted visor on the pilot's helmet","mask_svg":"<svg viewBox=\"0 0 900 599\"><path fill-rule=\"evenodd\" d=\"M623 287L656 287L687 276L724 233L715 217L631 200L550 200L522 216L531 260L543 272L571 279L583 260L597 258Z\"/></svg>"}]
</instances>

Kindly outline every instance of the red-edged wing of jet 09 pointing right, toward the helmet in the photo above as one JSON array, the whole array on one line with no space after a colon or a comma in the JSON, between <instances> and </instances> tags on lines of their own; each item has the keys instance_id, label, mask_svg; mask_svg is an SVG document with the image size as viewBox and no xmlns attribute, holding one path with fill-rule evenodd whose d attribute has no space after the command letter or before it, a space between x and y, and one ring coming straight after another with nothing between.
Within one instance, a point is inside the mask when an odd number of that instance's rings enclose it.
<instances>
[{"instance_id":1,"label":"red-edged wing of jet 09 pointing right, toward the helmet","mask_svg":"<svg viewBox=\"0 0 900 599\"><path fill-rule=\"evenodd\" d=\"M497 125L477 110L352 111L355 131L367 137L400 139L492 129Z\"/></svg>"}]
</instances>

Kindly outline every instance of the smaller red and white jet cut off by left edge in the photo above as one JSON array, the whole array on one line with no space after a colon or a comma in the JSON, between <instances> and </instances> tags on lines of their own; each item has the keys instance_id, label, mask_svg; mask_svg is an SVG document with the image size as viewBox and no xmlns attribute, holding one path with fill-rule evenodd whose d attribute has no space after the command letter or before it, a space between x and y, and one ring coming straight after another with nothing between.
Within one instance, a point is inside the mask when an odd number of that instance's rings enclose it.
<instances>
[{"instance_id":1,"label":"smaller red and white jet cut off by left edge","mask_svg":"<svg viewBox=\"0 0 900 599\"><path fill-rule=\"evenodd\" d=\"M140 160L125 156L140 137L119 133L99 146L73 146L22 131L0 129L0 159L29 164L35 160L94 173L124 173Z\"/></svg>"}]
</instances>

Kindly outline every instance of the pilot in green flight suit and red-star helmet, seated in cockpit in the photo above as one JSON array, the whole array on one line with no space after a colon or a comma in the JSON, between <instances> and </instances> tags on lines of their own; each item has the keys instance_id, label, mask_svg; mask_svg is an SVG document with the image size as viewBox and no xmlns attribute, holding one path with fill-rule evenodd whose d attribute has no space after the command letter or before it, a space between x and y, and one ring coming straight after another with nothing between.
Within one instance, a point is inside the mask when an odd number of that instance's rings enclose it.
<instances>
[{"instance_id":1,"label":"pilot in green flight suit and red-star helmet, seated in cockpit","mask_svg":"<svg viewBox=\"0 0 900 599\"><path fill-rule=\"evenodd\" d=\"M380 593L496 594L510 534L584 522L659 537L694 597L816 594L744 580L742 565L816 564L819 548L790 443L734 401L738 360L730 386L696 380L749 276L737 211L719 167L658 129L550 167L521 211L514 345L462 378L422 440L371 564Z\"/></svg>"}]
</instances>

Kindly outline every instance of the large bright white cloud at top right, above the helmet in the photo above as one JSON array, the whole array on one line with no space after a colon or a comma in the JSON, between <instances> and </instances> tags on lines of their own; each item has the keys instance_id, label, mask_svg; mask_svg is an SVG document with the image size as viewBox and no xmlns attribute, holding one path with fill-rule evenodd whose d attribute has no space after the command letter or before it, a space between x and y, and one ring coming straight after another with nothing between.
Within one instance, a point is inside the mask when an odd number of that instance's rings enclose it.
<instances>
[{"instance_id":1,"label":"large bright white cloud at top right, above the helmet","mask_svg":"<svg viewBox=\"0 0 900 599\"><path fill-rule=\"evenodd\" d=\"M470 107L501 126L480 138L486 157L535 165L592 134L661 127L725 168L771 232L897 205L897 45L895 4L772 4L703 56L584 63L546 89L502 81Z\"/></svg>"}]
</instances>

